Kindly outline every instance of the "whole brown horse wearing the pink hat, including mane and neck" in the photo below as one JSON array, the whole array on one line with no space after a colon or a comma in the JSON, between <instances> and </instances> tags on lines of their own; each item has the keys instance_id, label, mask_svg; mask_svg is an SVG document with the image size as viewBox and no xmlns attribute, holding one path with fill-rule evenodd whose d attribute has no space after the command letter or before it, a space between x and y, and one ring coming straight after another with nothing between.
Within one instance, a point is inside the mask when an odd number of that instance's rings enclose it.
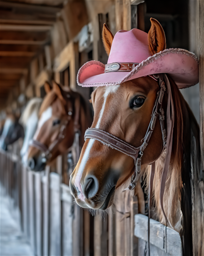
<instances>
[{"instance_id":1,"label":"whole brown horse wearing the pink hat, including mane and neck","mask_svg":"<svg viewBox=\"0 0 204 256\"><path fill-rule=\"evenodd\" d=\"M105 26L103 41L106 52L109 54L113 35ZM163 28L159 23L154 23L149 32L152 54L163 51L166 47L165 42ZM164 210L168 226L183 236L184 255L191 255L190 175L191 168L197 170L200 164L199 126L176 84L170 76L168 79L175 112L172 153L164 192ZM158 82L149 76L139 77L120 85L98 87L92 93L90 100L94 108L94 121L91 128L106 131L134 147L140 147L150 124L158 91ZM166 113L166 94L163 99L163 109ZM164 125L167 126L166 121ZM165 155L162 131L157 118L154 132L142 157L140 180L146 180L148 191L150 175L148 165L156 160L151 213L166 225L160 206L160 180ZM195 160L191 161L192 158ZM113 203L115 190L125 188L130 183L134 168L135 163L130 156L98 140L87 139L79 162L71 174L72 194L81 207L105 210ZM141 189L136 190L141 191Z\"/></svg>"}]
</instances>

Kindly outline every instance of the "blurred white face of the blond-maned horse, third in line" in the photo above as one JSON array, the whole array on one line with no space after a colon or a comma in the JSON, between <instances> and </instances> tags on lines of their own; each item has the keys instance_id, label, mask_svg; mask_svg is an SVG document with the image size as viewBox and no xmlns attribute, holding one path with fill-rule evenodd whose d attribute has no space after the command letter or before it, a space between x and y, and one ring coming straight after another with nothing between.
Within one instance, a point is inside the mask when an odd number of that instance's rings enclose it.
<instances>
[{"instance_id":1,"label":"blurred white face of the blond-maned horse, third in line","mask_svg":"<svg viewBox=\"0 0 204 256\"><path fill-rule=\"evenodd\" d=\"M37 129L37 122L38 122L37 112L33 111L33 113L30 115L26 123L25 138L23 141L23 146L20 151L23 164L27 164L29 142L33 139L33 136Z\"/></svg>"}]
</instances>

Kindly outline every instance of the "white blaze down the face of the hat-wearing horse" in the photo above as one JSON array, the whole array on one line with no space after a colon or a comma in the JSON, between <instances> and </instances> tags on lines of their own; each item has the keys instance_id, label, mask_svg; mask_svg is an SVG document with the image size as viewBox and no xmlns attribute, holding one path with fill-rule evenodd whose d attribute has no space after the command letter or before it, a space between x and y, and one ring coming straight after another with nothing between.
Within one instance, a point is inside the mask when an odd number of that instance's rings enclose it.
<instances>
[{"instance_id":1,"label":"white blaze down the face of the hat-wearing horse","mask_svg":"<svg viewBox=\"0 0 204 256\"><path fill-rule=\"evenodd\" d=\"M102 108L101 108L101 111L100 111L100 114L99 114L99 119L98 119L98 122L97 122L97 125L96 125L95 128L99 129L99 127L100 127L101 119L103 117L105 104L106 104L106 100L107 100L108 95L112 94L112 93L115 93L119 87L120 87L120 85L110 85L110 86L107 86L105 88L105 92L104 92L104 95L103 95L104 101L103 101L103 105L102 105ZM90 150L91 150L94 142L95 142L94 139L89 139L89 142L88 142L88 145L87 145L86 150L84 152L83 158L81 160L79 169L78 169L77 173L75 173L75 175L74 175L74 185L77 188L78 198L81 201L85 201L85 196L82 192L82 187L81 187L81 182L80 181L81 181L82 173L85 169L86 163L87 163L88 158L89 158Z\"/></svg>"}]
</instances>

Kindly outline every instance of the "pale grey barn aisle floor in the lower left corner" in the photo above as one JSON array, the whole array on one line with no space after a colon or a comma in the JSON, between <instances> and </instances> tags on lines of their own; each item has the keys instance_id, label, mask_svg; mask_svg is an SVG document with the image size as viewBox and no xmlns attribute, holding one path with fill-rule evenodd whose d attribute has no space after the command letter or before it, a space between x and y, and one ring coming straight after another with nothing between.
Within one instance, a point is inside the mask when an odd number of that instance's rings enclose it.
<instances>
[{"instance_id":1,"label":"pale grey barn aisle floor in the lower left corner","mask_svg":"<svg viewBox=\"0 0 204 256\"><path fill-rule=\"evenodd\" d=\"M2 192L2 191L1 191ZM30 244L8 208L8 199L0 197L0 255L32 256Z\"/></svg>"}]
</instances>

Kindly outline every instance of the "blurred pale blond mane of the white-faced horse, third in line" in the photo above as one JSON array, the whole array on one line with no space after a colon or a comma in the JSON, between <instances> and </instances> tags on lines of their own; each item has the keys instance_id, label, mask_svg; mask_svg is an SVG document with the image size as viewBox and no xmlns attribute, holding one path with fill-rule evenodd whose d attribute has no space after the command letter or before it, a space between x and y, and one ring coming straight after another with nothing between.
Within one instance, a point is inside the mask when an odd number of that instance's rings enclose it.
<instances>
[{"instance_id":1,"label":"blurred pale blond mane of the white-faced horse, third in line","mask_svg":"<svg viewBox=\"0 0 204 256\"><path fill-rule=\"evenodd\" d=\"M21 125L26 126L28 118L34 111L38 114L42 101L43 99L41 98L33 98L28 102L26 108L23 110L23 113L21 114L21 117L19 119L19 123Z\"/></svg>"}]
</instances>

